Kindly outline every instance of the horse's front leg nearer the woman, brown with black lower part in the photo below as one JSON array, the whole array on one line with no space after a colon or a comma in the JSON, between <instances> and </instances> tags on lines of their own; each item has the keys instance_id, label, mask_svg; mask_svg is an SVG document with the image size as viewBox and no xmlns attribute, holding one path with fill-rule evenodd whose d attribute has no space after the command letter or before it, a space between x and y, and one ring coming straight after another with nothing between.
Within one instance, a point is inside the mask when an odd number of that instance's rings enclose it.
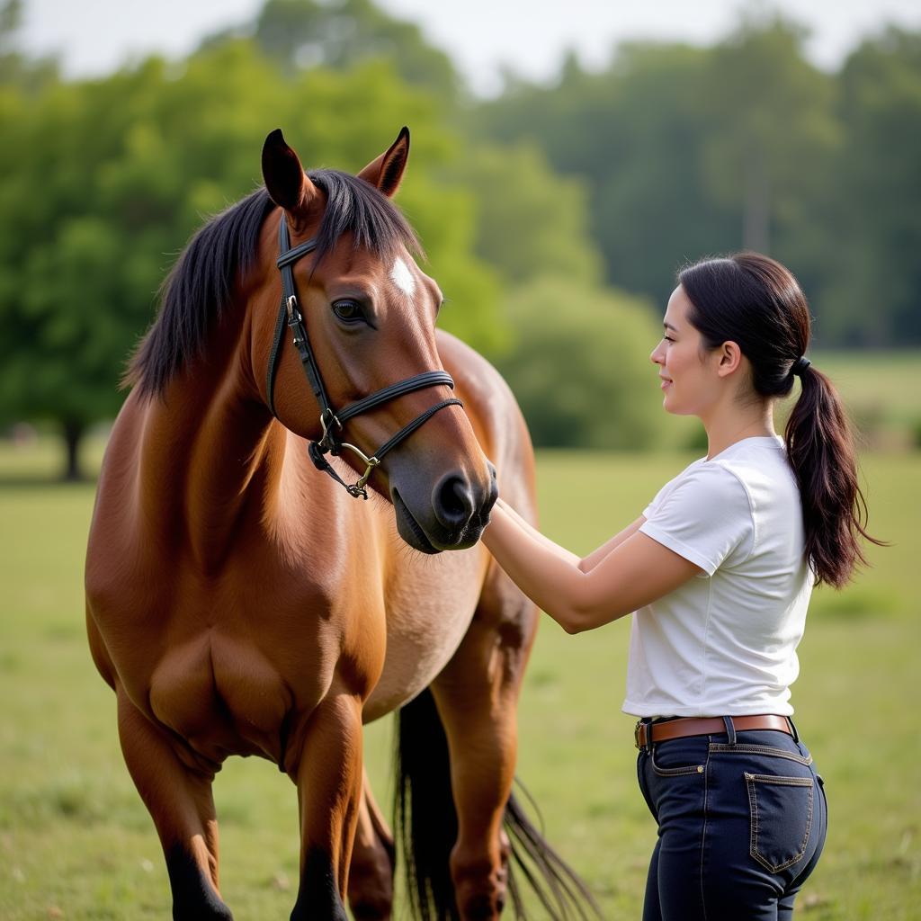
<instances>
[{"instance_id":1,"label":"horse's front leg nearer the woman, brown with black lower part","mask_svg":"<svg viewBox=\"0 0 921 921\"><path fill-rule=\"evenodd\" d=\"M310 716L293 768L300 888L291 921L348 921L345 889L361 801L361 698L332 694Z\"/></svg>"}]
</instances>

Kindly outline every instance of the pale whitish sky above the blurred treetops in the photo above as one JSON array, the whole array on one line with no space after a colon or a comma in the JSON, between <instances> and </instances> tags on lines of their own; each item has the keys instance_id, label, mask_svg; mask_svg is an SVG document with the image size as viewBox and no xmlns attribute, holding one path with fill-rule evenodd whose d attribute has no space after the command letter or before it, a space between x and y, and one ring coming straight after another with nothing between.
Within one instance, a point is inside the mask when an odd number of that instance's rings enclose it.
<instances>
[{"instance_id":1,"label":"pale whitish sky above the blurred treetops","mask_svg":"<svg viewBox=\"0 0 921 921\"><path fill-rule=\"evenodd\" d=\"M56 52L68 76L97 76L150 52L179 57L216 29L251 18L262 0L25 0L21 39ZM742 8L775 8L810 29L812 61L833 69L863 35L886 22L921 29L921 0L378 0L417 22L449 52L472 89L491 95L509 68L549 80L567 49L600 66L620 41L707 44L739 21Z\"/></svg>"}]
</instances>

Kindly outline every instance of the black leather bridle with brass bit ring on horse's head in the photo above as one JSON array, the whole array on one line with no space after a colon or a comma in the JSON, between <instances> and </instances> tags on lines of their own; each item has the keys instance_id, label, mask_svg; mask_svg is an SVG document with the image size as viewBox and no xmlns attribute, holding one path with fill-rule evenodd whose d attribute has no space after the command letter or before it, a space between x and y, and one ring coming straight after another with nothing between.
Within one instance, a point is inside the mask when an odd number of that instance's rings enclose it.
<instances>
[{"instance_id":1,"label":"black leather bridle with brass bit ring on horse's head","mask_svg":"<svg viewBox=\"0 0 921 921\"><path fill-rule=\"evenodd\" d=\"M422 374L416 374L412 378L406 378L396 384L391 384L389 387L384 387L379 391L375 391L367 397L362 397L361 400L349 403L344 409L336 413L332 409L330 398L326 393L326 388L323 386L320 366L317 364L317 359L313 354L313 350L310 348L307 327L304 324L304 318L297 306L297 287L295 286L294 271L292 269L292 266L298 259L302 256L306 256L316 248L316 238L309 239L292 248L291 240L288 236L287 221L285 216L282 215L281 222L278 226L279 255L278 261L276 262L282 273L282 303L278 311L278 320L275 321L274 342L272 344L272 353L269 356L268 377L266 379L266 395L269 409L277 418L274 406L274 379L281 356L282 337L285 333L287 321L288 328L294 333L294 344L297 346L297 354L300 356L300 363L304 366L304 372L307 374L310 388L313 391L313 395L317 398L321 410L320 426L322 436L319 440L310 442L308 449L310 460L313 461L313 465L317 470L329 473L333 480L343 485L349 495L353 495L355 498L360 496L363 499L367 499L367 479L374 468L384 459L384 455L400 444L404 438L410 437L419 426L425 425L425 423L439 410L444 409L446 406L462 407L463 403L460 400L451 398L449 400L437 402L434 406L430 406L426 409L425 413L417 415L411 423L403 426L396 435L385 441L371 457L367 457L365 452L355 445L341 440L338 433L341 433L345 423L356 415L367 413L368 410L374 409L381 403L396 400L397 397L402 397L406 393L421 391L426 387L438 387L441 384L447 384L451 390L453 390L454 379L451 378L447 371L424 371ZM365 464L365 472L362 473L361 477L354 484L345 483L343 478L333 470L332 465L325 457L326 454L332 454L338 457L343 449L348 449L357 454L361 462Z\"/></svg>"}]
</instances>

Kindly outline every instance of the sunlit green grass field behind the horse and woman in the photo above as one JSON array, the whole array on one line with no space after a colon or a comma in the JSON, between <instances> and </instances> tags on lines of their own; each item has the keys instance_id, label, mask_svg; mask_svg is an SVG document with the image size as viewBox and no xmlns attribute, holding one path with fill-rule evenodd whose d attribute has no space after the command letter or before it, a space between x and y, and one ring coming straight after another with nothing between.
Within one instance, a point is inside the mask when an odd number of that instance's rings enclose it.
<instances>
[{"instance_id":1,"label":"sunlit green grass field behind the horse and woman","mask_svg":"<svg viewBox=\"0 0 921 921\"><path fill-rule=\"evenodd\" d=\"M90 467L99 450L87 447ZM543 528L587 551L687 460L543 453ZM0 918L162 919L170 900L157 838L84 636L93 487L34 480L52 467L43 445L0 447ZM865 475L872 528L893 546L871 548L873 568L844 593L817 593L794 688L832 810L825 856L800 897L816 921L921 919L921 455L870 455ZM628 632L621 623L572 637L546 621L520 707L519 776L606 919L639 917L655 834L636 790L632 720L620 712ZM370 728L381 801L389 744L389 725ZM227 903L239 921L286 918L297 889L293 787L270 764L235 759L216 800Z\"/></svg>"}]
</instances>

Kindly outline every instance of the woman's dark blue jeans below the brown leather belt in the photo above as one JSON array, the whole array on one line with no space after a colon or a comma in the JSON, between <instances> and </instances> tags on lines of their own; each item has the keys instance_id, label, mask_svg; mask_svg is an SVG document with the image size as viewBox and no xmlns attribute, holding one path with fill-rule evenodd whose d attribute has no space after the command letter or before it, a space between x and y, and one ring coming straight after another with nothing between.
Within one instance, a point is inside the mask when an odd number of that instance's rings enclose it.
<instances>
[{"instance_id":1,"label":"woman's dark blue jeans below the brown leather belt","mask_svg":"<svg viewBox=\"0 0 921 921\"><path fill-rule=\"evenodd\" d=\"M728 729L639 754L659 823L643 921L789 921L819 862L828 809L810 753L785 732Z\"/></svg>"}]
</instances>

